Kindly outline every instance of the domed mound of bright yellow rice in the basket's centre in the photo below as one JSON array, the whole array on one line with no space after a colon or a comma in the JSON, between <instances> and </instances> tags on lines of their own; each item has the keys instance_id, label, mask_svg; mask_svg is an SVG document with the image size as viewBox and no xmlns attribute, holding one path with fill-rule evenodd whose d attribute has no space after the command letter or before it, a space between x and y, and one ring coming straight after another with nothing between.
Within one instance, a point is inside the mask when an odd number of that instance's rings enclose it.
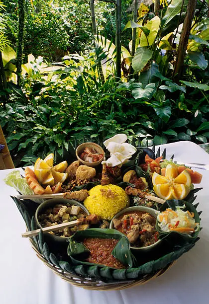
<instances>
[{"instance_id":1,"label":"domed mound of bright yellow rice in the basket's centre","mask_svg":"<svg viewBox=\"0 0 209 304\"><path fill-rule=\"evenodd\" d=\"M122 188L116 185L98 185L89 191L84 206L90 214L111 220L116 213L129 206L129 197Z\"/></svg>"}]
</instances>

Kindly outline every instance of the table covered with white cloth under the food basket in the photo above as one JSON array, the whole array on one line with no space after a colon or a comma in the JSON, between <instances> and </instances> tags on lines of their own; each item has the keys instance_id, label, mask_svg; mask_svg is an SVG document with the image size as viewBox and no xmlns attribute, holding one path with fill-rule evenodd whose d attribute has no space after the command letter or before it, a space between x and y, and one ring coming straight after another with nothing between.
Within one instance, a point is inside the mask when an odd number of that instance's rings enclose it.
<instances>
[{"instance_id":1,"label":"table covered with white cloth under the food basket","mask_svg":"<svg viewBox=\"0 0 209 304\"><path fill-rule=\"evenodd\" d=\"M209 163L209 154L191 142L167 144L176 160ZM162 152L161 149L161 152ZM28 239L21 238L24 221L9 195L17 192L4 184L10 170L0 170L0 303L1 304L208 304L209 288L209 171L198 169L204 187L198 193L202 210L201 239L163 276L123 291L88 291L74 287L42 263ZM8 222L9 219L9 222Z\"/></svg>"}]
</instances>

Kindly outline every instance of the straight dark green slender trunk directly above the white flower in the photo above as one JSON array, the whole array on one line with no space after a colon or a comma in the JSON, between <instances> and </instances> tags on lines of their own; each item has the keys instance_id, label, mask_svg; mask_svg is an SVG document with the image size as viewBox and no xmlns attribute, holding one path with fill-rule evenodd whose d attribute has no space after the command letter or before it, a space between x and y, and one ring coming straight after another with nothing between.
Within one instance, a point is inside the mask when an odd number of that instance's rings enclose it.
<instances>
[{"instance_id":1,"label":"straight dark green slender trunk directly above the white flower","mask_svg":"<svg viewBox=\"0 0 209 304\"><path fill-rule=\"evenodd\" d=\"M121 77L121 0L116 0L116 77ZM119 80L119 79L118 79Z\"/></svg>"}]
</instances>

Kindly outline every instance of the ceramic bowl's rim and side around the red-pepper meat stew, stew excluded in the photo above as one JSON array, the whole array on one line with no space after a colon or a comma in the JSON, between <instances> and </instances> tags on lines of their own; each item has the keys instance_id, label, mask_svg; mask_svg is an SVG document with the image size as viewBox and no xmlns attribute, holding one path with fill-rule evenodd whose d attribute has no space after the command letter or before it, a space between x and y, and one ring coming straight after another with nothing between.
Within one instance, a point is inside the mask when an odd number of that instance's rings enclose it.
<instances>
[{"instance_id":1,"label":"ceramic bowl's rim and side around the red-pepper meat stew, stew excluded","mask_svg":"<svg viewBox=\"0 0 209 304\"><path fill-rule=\"evenodd\" d=\"M157 219L157 215L158 215L158 211L156 211L155 209L149 208L149 207L145 207L145 206L133 206L133 207L128 207L123 209L122 211L118 212L111 220L110 222L110 226L109 228L114 228L113 225L113 220L117 219L119 216L123 215L126 212L130 212L130 213L134 213L134 211L142 211L142 212L147 212L149 213L151 216L153 216L154 218ZM132 251L136 251L137 253L139 252L148 252L151 251L152 249L155 249L159 244L160 244L161 240L159 239L157 242L155 242L152 245L146 246L146 247L132 247L130 246L130 249Z\"/></svg>"}]
</instances>

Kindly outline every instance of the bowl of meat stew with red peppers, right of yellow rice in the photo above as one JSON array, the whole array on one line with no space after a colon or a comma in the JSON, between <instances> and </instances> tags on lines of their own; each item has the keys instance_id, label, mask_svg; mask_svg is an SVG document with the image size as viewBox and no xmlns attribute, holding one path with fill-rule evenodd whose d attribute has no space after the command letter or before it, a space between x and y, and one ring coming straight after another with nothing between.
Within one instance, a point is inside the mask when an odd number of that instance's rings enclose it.
<instances>
[{"instance_id":1,"label":"bowl of meat stew with red peppers, right of yellow rice","mask_svg":"<svg viewBox=\"0 0 209 304\"><path fill-rule=\"evenodd\" d=\"M156 230L158 212L145 206L133 206L117 213L109 228L127 236L132 250L150 250L160 243Z\"/></svg>"}]
</instances>

